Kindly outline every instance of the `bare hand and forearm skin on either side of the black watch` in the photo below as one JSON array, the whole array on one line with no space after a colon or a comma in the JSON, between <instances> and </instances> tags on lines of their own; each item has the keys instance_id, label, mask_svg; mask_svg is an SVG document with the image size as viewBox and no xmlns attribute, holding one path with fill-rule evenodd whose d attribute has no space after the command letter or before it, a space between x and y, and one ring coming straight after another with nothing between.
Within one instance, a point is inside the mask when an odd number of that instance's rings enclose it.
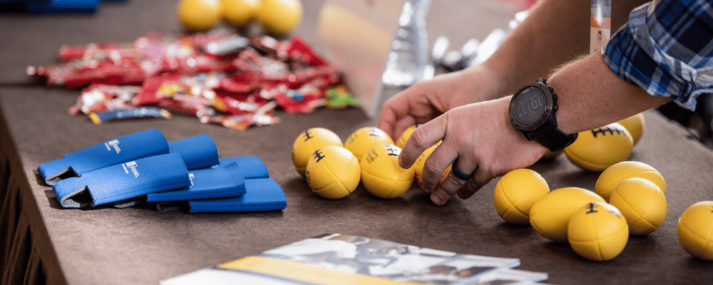
<instances>
[{"instance_id":1,"label":"bare hand and forearm skin on either side of the black watch","mask_svg":"<svg viewBox=\"0 0 713 285\"><path fill-rule=\"evenodd\" d=\"M665 103L610 71L599 53L566 66L548 84L558 94L558 125L564 133L578 133L627 118ZM421 125L401 151L399 164L410 167L427 147L443 140L424 164L421 188L431 201L443 204L458 193L467 199L493 178L528 167L546 148L528 141L508 118L511 96L464 105ZM458 158L463 172L474 172L463 181L452 172L439 183L443 170Z\"/></svg>"}]
</instances>

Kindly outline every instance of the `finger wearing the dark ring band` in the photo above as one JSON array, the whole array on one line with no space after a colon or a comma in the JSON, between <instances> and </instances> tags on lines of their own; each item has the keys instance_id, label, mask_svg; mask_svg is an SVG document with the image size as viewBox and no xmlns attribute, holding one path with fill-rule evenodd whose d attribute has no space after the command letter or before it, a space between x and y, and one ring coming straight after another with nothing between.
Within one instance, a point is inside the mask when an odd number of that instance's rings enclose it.
<instances>
[{"instance_id":1,"label":"finger wearing the dark ring band","mask_svg":"<svg viewBox=\"0 0 713 285\"><path fill-rule=\"evenodd\" d=\"M473 169L476 169L476 164L472 160L468 160L465 157L456 158L451 171L448 172L446 178L438 184L436 190L431 194L431 201L434 204L445 204L448 199L456 195L467 181L472 179ZM458 172L461 173L458 174Z\"/></svg>"}]
</instances>

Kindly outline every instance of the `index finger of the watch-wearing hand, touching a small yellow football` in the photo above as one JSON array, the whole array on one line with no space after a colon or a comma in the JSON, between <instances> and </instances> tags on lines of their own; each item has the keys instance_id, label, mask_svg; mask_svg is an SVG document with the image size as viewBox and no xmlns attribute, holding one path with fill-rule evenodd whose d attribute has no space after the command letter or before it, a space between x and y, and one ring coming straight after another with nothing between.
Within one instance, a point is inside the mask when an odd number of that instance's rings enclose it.
<instances>
[{"instance_id":1,"label":"index finger of the watch-wearing hand, touching a small yellow football","mask_svg":"<svg viewBox=\"0 0 713 285\"><path fill-rule=\"evenodd\" d=\"M425 123L419 128L416 128L414 133L411 133L411 138L406 141L406 144L401 150L401 155L399 155L399 166L403 168L411 167L426 148L435 145L438 141L443 139L443 136L446 134L445 118L443 117L443 115L438 116L429 123ZM436 148L436 150L438 150L438 148ZM428 160L426 160L426 162L428 162ZM424 170L425 168L424 165Z\"/></svg>"}]
</instances>

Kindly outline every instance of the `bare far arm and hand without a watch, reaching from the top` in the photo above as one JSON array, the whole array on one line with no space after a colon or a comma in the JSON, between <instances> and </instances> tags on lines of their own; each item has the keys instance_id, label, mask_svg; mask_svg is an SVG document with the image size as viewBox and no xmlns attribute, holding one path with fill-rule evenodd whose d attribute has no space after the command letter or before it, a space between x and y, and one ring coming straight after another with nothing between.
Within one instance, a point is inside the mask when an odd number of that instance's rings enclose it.
<instances>
[{"instance_id":1,"label":"bare far arm and hand without a watch, reaching from the top","mask_svg":"<svg viewBox=\"0 0 713 285\"><path fill-rule=\"evenodd\" d=\"M631 9L645 1L613 2L612 29L616 29L627 21ZM426 123L461 105L511 94L587 53L590 7L586 0L539 1L484 63L416 83L389 98L381 108L379 128L398 138L411 125Z\"/></svg>"}]
</instances>

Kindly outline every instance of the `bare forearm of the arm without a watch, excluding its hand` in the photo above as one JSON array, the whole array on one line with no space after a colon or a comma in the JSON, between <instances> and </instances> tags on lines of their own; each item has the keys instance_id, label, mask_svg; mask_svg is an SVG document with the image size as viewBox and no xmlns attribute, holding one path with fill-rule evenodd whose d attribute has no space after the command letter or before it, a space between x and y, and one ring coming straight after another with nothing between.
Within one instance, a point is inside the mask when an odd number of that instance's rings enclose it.
<instances>
[{"instance_id":1,"label":"bare forearm of the arm without a watch, excluding its hand","mask_svg":"<svg viewBox=\"0 0 713 285\"><path fill-rule=\"evenodd\" d=\"M632 9L647 1L611 2L614 33L627 22ZM591 1L588 0L538 1L525 21L482 65L498 78L502 94L512 94L524 83L545 77L564 63L587 54L590 16Z\"/></svg>"}]
</instances>

